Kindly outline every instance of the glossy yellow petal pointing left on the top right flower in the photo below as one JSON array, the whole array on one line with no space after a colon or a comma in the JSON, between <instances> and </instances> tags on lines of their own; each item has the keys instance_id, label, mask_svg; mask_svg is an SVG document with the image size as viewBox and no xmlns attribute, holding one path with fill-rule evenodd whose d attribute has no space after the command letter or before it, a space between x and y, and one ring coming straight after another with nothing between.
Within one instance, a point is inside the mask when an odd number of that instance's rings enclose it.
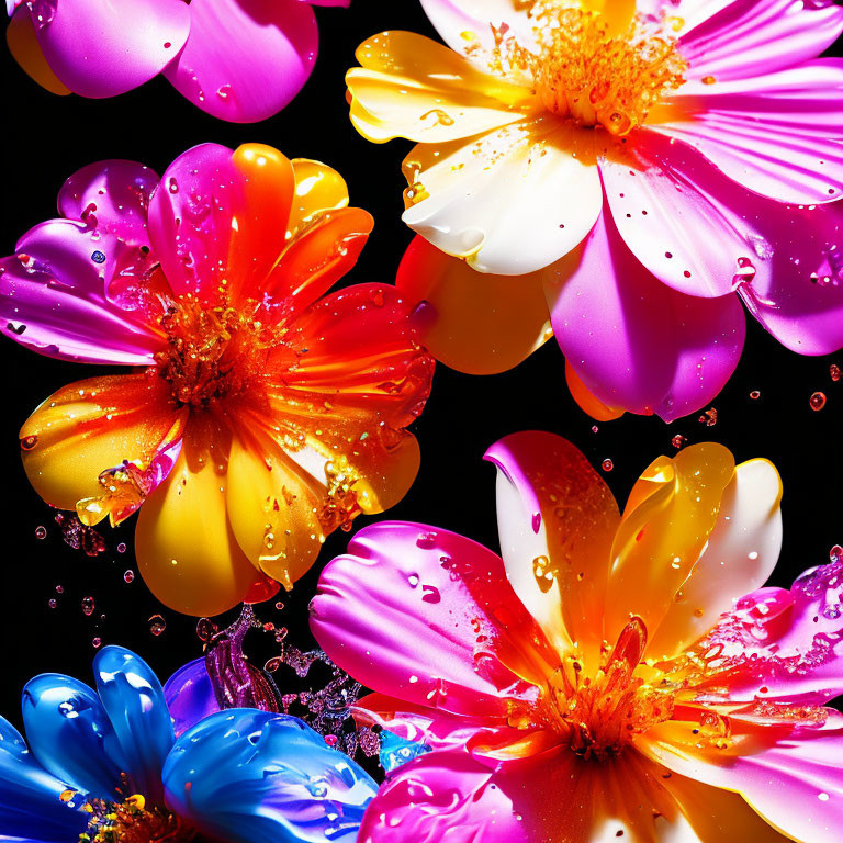
<instances>
[{"instance_id":1,"label":"glossy yellow petal pointing left on the top right flower","mask_svg":"<svg viewBox=\"0 0 843 843\"><path fill-rule=\"evenodd\" d=\"M357 50L348 72L351 121L369 140L446 142L520 120L537 98L474 68L448 47L409 32L384 32Z\"/></svg>"}]
</instances>

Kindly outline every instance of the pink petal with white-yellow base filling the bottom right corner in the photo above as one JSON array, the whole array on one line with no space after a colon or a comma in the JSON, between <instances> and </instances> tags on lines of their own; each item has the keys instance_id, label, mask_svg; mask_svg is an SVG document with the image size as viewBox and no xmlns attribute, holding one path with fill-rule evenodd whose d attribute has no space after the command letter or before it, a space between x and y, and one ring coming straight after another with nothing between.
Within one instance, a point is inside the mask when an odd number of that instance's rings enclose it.
<instances>
[{"instance_id":1,"label":"pink petal with white-yellow base filling the bottom right corner","mask_svg":"<svg viewBox=\"0 0 843 843\"><path fill-rule=\"evenodd\" d=\"M752 748L751 754L729 753L722 761L695 751L690 729L687 749L659 743L660 727L651 732L645 737L648 754L667 768L741 794L767 822L794 840L839 843L843 829L843 732L839 728L766 737L741 734L733 728L733 744L743 741Z\"/></svg>"}]
</instances>

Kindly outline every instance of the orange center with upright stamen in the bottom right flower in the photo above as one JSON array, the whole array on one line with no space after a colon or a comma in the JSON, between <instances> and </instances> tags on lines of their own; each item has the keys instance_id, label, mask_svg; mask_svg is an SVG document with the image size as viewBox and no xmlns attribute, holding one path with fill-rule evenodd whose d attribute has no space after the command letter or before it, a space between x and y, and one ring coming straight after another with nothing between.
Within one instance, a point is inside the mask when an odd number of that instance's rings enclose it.
<instances>
[{"instance_id":1,"label":"orange center with upright stamen in the bottom right flower","mask_svg":"<svg viewBox=\"0 0 843 843\"><path fill-rule=\"evenodd\" d=\"M554 724L583 758L615 757L636 734L671 717L671 690L636 675L645 644L647 628L632 618L615 648L606 648L596 675L583 676L576 656L567 655L553 676Z\"/></svg>"}]
</instances>

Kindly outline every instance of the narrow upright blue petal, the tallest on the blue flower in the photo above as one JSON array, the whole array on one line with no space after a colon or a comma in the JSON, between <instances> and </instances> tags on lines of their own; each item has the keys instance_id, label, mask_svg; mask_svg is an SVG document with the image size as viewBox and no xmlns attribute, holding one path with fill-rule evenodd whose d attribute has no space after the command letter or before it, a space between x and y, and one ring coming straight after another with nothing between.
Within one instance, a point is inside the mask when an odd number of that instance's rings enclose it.
<instances>
[{"instance_id":1,"label":"narrow upright blue petal, the tallest on the blue flower","mask_svg":"<svg viewBox=\"0 0 843 843\"><path fill-rule=\"evenodd\" d=\"M164 688L151 667L122 647L106 647L93 660L97 690L123 757L132 788L160 805L161 771L176 737Z\"/></svg>"}]
</instances>

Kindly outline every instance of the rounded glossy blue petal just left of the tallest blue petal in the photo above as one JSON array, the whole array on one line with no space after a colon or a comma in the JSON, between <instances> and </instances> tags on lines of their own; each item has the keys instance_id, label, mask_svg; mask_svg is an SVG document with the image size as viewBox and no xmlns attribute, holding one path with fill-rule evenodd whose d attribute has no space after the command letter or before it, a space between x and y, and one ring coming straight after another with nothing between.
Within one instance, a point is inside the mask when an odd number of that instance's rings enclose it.
<instances>
[{"instance_id":1,"label":"rounded glossy blue petal just left of the tallest blue petal","mask_svg":"<svg viewBox=\"0 0 843 843\"><path fill-rule=\"evenodd\" d=\"M57 673L31 679L23 689L23 724L33 755L54 776L95 797L125 798L117 789L125 757L87 685Z\"/></svg>"}]
</instances>

